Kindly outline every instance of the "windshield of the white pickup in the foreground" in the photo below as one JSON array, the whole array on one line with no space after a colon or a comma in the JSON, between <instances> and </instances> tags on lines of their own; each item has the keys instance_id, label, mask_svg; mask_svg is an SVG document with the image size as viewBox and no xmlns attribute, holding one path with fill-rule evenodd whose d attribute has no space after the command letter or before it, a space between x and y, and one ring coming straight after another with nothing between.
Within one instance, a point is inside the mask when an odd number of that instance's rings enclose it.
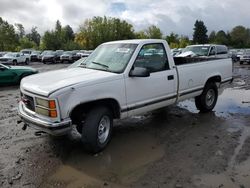
<instances>
[{"instance_id":1,"label":"windshield of the white pickup in the foreground","mask_svg":"<svg viewBox=\"0 0 250 188\"><path fill-rule=\"evenodd\" d=\"M103 44L86 59L86 68L122 73L137 44Z\"/></svg>"}]
</instances>

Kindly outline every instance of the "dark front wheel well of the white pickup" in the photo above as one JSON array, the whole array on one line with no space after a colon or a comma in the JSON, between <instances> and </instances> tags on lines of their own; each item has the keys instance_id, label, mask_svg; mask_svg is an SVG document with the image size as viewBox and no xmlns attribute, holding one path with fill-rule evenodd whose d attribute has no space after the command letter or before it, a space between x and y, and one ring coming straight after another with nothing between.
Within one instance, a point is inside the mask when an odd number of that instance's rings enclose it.
<instances>
[{"instance_id":1,"label":"dark front wheel well of the white pickup","mask_svg":"<svg viewBox=\"0 0 250 188\"><path fill-rule=\"evenodd\" d=\"M79 104L78 106L74 107L74 109L70 113L70 118L72 119L73 124L77 123L79 114L87 113L90 109L92 109L95 106L106 106L111 110L114 118L120 117L120 105L115 99L101 99Z\"/></svg>"}]
</instances>

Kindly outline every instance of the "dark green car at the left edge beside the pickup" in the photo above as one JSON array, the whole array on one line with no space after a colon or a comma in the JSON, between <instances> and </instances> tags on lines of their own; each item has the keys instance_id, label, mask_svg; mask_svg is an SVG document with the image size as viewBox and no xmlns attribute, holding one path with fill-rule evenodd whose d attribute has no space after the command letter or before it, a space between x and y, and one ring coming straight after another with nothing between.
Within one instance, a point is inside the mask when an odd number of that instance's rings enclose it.
<instances>
[{"instance_id":1,"label":"dark green car at the left edge beside the pickup","mask_svg":"<svg viewBox=\"0 0 250 188\"><path fill-rule=\"evenodd\" d=\"M0 85L18 84L22 78L36 73L38 71L31 67L7 66L0 63Z\"/></svg>"}]
</instances>

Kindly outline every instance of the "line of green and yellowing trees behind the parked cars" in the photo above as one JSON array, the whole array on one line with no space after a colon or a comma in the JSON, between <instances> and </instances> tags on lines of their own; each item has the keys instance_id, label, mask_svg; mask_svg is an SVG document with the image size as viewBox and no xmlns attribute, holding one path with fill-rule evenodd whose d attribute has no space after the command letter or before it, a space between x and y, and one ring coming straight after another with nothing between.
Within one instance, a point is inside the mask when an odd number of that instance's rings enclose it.
<instances>
[{"instance_id":1,"label":"line of green and yellowing trees behind the parked cars","mask_svg":"<svg viewBox=\"0 0 250 188\"><path fill-rule=\"evenodd\" d=\"M201 20L196 20L193 38L180 36L174 32L164 36L161 29L151 25L145 30L135 31L132 24L112 17L93 17L85 20L75 33L70 25L62 26L56 21L54 29L47 30L41 36L37 27L26 33L22 24L9 24L0 17L0 51L19 51L24 48L39 50L75 50L94 49L99 44L124 39L165 39L171 48L183 48L190 44L215 43L232 48L250 47L250 29L236 26L231 31L212 31L208 35L207 27Z\"/></svg>"}]
</instances>

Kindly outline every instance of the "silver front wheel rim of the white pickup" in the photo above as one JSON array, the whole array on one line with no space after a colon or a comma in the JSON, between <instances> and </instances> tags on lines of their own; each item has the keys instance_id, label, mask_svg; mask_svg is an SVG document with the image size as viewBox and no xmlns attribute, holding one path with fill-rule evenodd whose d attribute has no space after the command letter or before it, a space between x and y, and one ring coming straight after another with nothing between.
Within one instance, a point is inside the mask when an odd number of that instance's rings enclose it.
<instances>
[{"instance_id":1,"label":"silver front wheel rim of the white pickup","mask_svg":"<svg viewBox=\"0 0 250 188\"><path fill-rule=\"evenodd\" d=\"M98 140L101 144L105 143L110 131L110 118L103 116L98 125Z\"/></svg>"}]
</instances>

